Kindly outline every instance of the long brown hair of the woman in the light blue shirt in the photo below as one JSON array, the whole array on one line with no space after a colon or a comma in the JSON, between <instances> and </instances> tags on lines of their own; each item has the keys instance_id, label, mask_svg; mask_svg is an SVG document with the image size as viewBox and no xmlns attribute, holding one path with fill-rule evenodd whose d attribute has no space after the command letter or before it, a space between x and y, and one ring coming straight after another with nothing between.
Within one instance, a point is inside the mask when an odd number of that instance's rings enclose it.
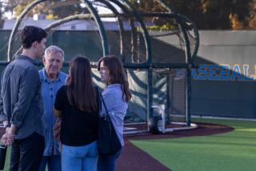
<instances>
[{"instance_id":1,"label":"long brown hair of the woman in the light blue shirt","mask_svg":"<svg viewBox=\"0 0 256 171\"><path fill-rule=\"evenodd\" d=\"M129 82L127 81L122 62L114 55L105 56L98 61L98 70L100 70L101 62L104 62L104 66L109 70L110 78L106 84L122 85L122 97L126 102L130 101L131 93L129 90Z\"/></svg>"}]
</instances>

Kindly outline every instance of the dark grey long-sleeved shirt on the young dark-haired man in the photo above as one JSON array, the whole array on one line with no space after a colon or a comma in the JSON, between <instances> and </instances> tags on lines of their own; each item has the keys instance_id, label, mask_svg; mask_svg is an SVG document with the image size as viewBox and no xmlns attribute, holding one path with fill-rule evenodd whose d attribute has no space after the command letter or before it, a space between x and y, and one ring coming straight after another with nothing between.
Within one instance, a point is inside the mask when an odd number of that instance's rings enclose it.
<instances>
[{"instance_id":1,"label":"dark grey long-sleeved shirt on the young dark-haired man","mask_svg":"<svg viewBox=\"0 0 256 171\"><path fill-rule=\"evenodd\" d=\"M18 56L2 72L0 121L10 121L18 130L15 139L36 132L44 136L41 81L37 62Z\"/></svg>"}]
</instances>

